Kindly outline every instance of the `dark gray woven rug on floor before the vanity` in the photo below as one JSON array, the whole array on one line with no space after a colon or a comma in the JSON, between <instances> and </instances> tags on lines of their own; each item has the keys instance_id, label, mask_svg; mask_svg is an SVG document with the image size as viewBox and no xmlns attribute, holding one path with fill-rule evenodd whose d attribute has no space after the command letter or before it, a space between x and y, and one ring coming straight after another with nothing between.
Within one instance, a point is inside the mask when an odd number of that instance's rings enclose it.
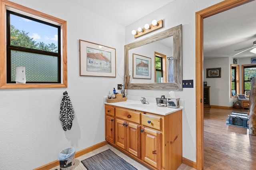
<instances>
[{"instance_id":1,"label":"dark gray woven rug on floor before the vanity","mask_svg":"<svg viewBox=\"0 0 256 170\"><path fill-rule=\"evenodd\" d=\"M88 170L137 170L110 149L81 160L81 162Z\"/></svg>"}]
</instances>

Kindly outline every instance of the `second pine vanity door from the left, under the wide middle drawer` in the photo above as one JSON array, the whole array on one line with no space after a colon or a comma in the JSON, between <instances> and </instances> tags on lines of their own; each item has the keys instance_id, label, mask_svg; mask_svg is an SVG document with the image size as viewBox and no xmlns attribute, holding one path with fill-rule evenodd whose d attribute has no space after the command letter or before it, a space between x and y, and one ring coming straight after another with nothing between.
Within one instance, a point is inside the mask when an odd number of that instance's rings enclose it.
<instances>
[{"instance_id":1,"label":"second pine vanity door from the left, under the wide middle drawer","mask_svg":"<svg viewBox=\"0 0 256 170\"><path fill-rule=\"evenodd\" d=\"M116 119L116 145L126 150L126 121Z\"/></svg>"}]
</instances>

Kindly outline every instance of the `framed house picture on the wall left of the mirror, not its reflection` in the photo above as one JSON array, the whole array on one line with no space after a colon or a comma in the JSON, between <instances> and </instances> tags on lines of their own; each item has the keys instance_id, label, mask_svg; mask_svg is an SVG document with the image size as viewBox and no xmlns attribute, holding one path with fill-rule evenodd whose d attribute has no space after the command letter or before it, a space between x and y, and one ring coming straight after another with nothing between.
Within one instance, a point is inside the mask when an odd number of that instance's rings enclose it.
<instances>
[{"instance_id":1,"label":"framed house picture on the wall left of the mirror, not its reflection","mask_svg":"<svg viewBox=\"0 0 256 170\"><path fill-rule=\"evenodd\" d=\"M79 40L80 76L116 77L116 49Z\"/></svg>"}]
</instances>

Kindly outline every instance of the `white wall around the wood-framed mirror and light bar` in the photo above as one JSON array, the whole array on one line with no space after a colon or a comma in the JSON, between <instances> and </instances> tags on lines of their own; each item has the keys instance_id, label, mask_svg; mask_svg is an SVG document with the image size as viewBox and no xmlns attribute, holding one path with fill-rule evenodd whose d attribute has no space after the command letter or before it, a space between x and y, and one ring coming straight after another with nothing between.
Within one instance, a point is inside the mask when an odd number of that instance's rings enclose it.
<instances>
[{"instance_id":1,"label":"white wall around the wood-framed mirror and light bar","mask_svg":"<svg viewBox=\"0 0 256 170\"><path fill-rule=\"evenodd\" d=\"M183 157L196 162L196 89L195 89L195 12L216 4L221 0L174 0L146 17L126 26L126 44L141 40L157 32L182 24L182 76L183 80L194 80L194 88L176 91L176 97L185 101L182 111ZM144 27L152 20L163 20L164 28L134 39L131 31ZM129 95L144 97L169 96L169 90L128 90Z\"/></svg>"}]
</instances>

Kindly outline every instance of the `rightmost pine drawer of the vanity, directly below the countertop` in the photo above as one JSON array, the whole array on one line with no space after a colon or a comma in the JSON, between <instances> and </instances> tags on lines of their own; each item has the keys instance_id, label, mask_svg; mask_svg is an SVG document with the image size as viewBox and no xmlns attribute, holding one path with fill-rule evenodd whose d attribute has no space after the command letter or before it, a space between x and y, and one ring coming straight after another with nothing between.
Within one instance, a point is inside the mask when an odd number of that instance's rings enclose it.
<instances>
[{"instance_id":1,"label":"rightmost pine drawer of the vanity, directly below the countertop","mask_svg":"<svg viewBox=\"0 0 256 170\"><path fill-rule=\"evenodd\" d=\"M161 118L160 117L154 117L154 116L150 116L150 115L141 115L141 124L146 127L161 130Z\"/></svg>"}]
</instances>

